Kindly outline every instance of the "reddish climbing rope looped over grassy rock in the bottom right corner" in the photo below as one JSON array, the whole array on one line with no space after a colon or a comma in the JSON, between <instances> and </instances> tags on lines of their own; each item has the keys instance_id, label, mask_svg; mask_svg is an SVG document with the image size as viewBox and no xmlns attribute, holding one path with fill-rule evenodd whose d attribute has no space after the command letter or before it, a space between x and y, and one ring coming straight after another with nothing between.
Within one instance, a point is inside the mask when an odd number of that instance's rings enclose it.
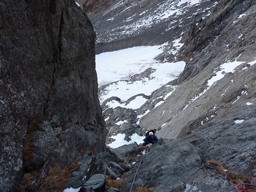
<instances>
[{"instance_id":1,"label":"reddish climbing rope looped over grassy rock in the bottom right corner","mask_svg":"<svg viewBox=\"0 0 256 192\"><path fill-rule=\"evenodd\" d=\"M203 168L204 166L207 166L208 168L211 169L216 169L216 171L209 171L209 173L213 176L217 176L217 177L221 177L224 180L226 180L227 182L229 182L230 185L233 185L233 187L235 187L237 192L252 192L249 189L254 189L256 190L256 185L254 184L249 184L249 183L242 183L242 184L234 184L233 182L230 182L229 180L227 180L227 174L223 173L222 171L220 171L220 169L214 168L212 166L209 165L205 165L204 163L202 164L201 167L199 167L198 169L196 169L196 171L192 172L191 175L189 175L189 185L191 185L191 187L189 188L189 190L187 192L190 192L193 188L193 186L195 185L195 182L191 182L191 177L193 174L195 174L199 169ZM248 187L245 187L248 186Z\"/></svg>"}]
</instances>

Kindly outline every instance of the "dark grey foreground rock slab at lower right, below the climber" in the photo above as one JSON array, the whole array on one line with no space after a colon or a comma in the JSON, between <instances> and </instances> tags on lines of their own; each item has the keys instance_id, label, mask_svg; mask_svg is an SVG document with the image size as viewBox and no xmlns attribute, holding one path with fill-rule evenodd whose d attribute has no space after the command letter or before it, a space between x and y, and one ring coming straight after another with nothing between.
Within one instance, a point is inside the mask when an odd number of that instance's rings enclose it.
<instances>
[{"instance_id":1,"label":"dark grey foreground rock slab at lower right, below the climber","mask_svg":"<svg viewBox=\"0 0 256 192\"><path fill-rule=\"evenodd\" d=\"M216 122L208 124L204 130L182 139L154 144L143 158L133 191L143 186L153 191L183 192L192 187L192 182L195 183L192 191L196 192L235 191L235 187L224 178L213 177L216 169L199 168L207 160L214 160L227 166L224 174L248 175L248 181L240 182L251 182L249 180L256 176L256 159L251 153L255 149L254 128L255 118L246 120L243 125L221 120L218 126ZM132 169L120 191L130 191L137 168L138 165ZM195 174L191 175L193 172ZM227 177L229 181L230 177Z\"/></svg>"}]
</instances>

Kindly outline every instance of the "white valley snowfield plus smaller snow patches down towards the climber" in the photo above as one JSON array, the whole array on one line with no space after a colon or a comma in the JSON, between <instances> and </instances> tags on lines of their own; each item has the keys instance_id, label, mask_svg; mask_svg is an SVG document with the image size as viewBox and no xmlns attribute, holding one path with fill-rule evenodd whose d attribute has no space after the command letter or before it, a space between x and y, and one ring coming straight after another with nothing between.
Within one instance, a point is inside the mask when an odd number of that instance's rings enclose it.
<instances>
[{"instance_id":1,"label":"white valley snowfield plus smaller snow patches down towards the climber","mask_svg":"<svg viewBox=\"0 0 256 192\"><path fill-rule=\"evenodd\" d=\"M176 79L182 72L185 62L158 63L154 59L162 51L161 46L141 46L96 55L96 71L100 86L99 100L101 104L107 100L103 106L103 113L108 124L108 130L113 127L110 124L114 123L113 119L110 118L111 112L108 113L109 108L131 108L136 111L148 101L155 90ZM143 74L145 71L147 73ZM141 73L143 75L136 77ZM156 103L155 107L163 103L167 96L162 96L162 100ZM109 99L111 97L113 99ZM116 97L120 100L117 100ZM146 109L146 112L148 112L148 109ZM146 112L143 114L137 112L136 124L138 126L140 117L145 115ZM115 119L115 126L121 126L124 123L127 123L125 117L124 119ZM118 130L114 133L118 134ZM119 133L118 135L124 139L124 134ZM130 136L129 143L134 141L141 143L143 138L142 134L138 136L138 133L134 133ZM120 142L120 139L115 135L113 139L117 145L112 143L109 144L110 147L127 144L127 141Z\"/></svg>"}]
</instances>

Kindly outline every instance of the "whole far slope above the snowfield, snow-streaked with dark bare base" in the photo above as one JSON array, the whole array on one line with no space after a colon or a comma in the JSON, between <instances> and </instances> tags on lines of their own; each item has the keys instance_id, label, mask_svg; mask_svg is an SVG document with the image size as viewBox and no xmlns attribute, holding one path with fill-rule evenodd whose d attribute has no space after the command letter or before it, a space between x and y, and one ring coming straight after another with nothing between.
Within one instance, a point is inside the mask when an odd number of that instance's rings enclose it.
<instances>
[{"instance_id":1,"label":"whole far slope above the snowfield, snow-streaked with dark bare base","mask_svg":"<svg viewBox=\"0 0 256 192\"><path fill-rule=\"evenodd\" d=\"M216 1L85 1L93 23L96 53L179 39L189 23L209 14Z\"/></svg>"}]
</instances>

